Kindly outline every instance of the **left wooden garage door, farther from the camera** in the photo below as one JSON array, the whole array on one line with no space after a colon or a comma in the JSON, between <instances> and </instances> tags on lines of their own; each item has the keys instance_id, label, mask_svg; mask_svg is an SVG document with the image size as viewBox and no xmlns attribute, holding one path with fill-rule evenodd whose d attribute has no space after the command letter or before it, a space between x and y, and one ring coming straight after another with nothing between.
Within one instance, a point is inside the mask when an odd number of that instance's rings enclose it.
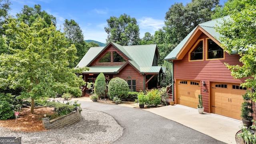
<instances>
[{"instance_id":1,"label":"left wooden garage door, farther from the camera","mask_svg":"<svg viewBox=\"0 0 256 144\"><path fill-rule=\"evenodd\" d=\"M197 108L200 81L176 80L178 104Z\"/></svg>"}]
</instances>

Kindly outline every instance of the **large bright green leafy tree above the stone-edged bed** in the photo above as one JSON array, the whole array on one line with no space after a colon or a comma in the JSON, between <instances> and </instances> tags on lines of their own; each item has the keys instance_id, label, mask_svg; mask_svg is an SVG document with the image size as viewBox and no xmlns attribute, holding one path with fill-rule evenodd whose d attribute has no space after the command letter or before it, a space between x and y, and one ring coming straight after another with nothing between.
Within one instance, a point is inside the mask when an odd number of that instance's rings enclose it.
<instances>
[{"instance_id":1,"label":"large bright green leafy tree above the stone-edged bed","mask_svg":"<svg viewBox=\"0 0 256 144\"><path fill-rule=\"evenodd\" d=\"M40 17L31 26L9 18L4 27L6 33L14 37L8 45L10 54L0 55L2 88L22 88L22 98L31 98L31 113L34 113L36 99L57 93L81 96L79 87L84 81L76 76L74 69L68 68L77 58L76 47L68 45L62 32L53 24L45 27Z\"/></svg>"}]
</instances>

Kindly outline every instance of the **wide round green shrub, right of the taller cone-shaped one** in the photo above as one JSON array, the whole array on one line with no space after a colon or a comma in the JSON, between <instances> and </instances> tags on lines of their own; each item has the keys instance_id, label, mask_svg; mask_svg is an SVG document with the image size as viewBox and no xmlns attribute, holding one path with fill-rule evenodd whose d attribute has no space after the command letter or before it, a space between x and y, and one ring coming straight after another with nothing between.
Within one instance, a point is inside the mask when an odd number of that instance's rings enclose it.
<instances>
[{"instance_id":1,"label":"wide round green shrub, right of the taller cone-shaped one","mask_svg":"<svg viewBox=\"0 0 256 144\"><path fill-rule=\"evenodd\" d=\"M126 98L129 93L129 86L122 78L113 78L108 84L108 96L110 100L113 100L114 96L118 98Z\"/></svg>"}]
</instances>

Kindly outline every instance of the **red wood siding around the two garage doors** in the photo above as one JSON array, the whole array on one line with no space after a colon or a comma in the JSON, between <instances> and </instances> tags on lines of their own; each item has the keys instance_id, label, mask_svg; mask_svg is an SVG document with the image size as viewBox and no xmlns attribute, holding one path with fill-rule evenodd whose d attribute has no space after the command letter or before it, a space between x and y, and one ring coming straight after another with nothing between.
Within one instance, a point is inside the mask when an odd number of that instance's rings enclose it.
<instances>
[{"instance_id":1,"label":"red wood siding around the two garage doors","mask_svg":"<svg viewBox=\"0 0 256 144\"><path fill-rule=\"evenodd\" d=\"M210 81L213 82L229 82L243 83L243 79L234 79L231 76L230 70L224 65L242 65L239 62L240 56L229 55L225 52L224 60L206 60L206 36L202 34L198 39L204 38L204 60L203 61L188 61L188 51L182 60L174 60L174 80L201 80L205 82L205 86L201 83L201 94L205 112L210 112ZM206 92L203 90L206 89ZM176 101L176 84L174 84L174 99ZM176 101L177 102L177 101Z\"/></svg>"}]
</instances>

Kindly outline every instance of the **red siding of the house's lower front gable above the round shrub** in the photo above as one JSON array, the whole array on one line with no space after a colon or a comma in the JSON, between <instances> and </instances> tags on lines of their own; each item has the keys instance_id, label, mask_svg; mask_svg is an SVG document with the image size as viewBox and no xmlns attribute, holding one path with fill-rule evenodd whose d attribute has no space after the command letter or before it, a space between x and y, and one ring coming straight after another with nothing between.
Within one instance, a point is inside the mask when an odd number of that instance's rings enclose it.
<instances>
[{"instance_id":1,"label":"red siding of the house's lower front gable above the round shrub","mask_svg":"<svg viewBox=\"0 0 256 144\"><path fill-rule=\"evenodd\" d=\"M130 76L132 80L136 80L136 92L138 92L139 90L144 90L144 86L143 86L144 76L140 75L140 73L136 71L131 65L129 64L126 65L121 72L114 75L114 77L119 77L124 80L126 80L128 76Z\"/></svg>"}]
</instances>

